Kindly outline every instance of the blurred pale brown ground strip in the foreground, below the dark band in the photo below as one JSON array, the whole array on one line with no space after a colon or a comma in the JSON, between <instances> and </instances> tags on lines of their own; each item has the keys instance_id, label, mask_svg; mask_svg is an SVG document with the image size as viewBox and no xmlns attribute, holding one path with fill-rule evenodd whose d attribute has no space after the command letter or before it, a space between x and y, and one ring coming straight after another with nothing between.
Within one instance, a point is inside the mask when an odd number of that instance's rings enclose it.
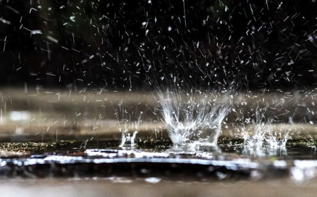
<instances>
[{"instance_id":1,"label":"blurred pale brown ground strip in the foreground, below the dark band","mask_svg":"<svg viewBox=\"0 0 317 197\"><path fill-rule=\"evenodd\" d=\"M154 180L154 181L153 181ZM1 196L175 196L175 197L314 197L316 183L296 184L289 180L234 181L234 182L188 182L148 179L41 179L1 180ZM36 192L35 192L36 191ZM24 195L21 195L24 194Z\"/></svg>"}]
</instances>

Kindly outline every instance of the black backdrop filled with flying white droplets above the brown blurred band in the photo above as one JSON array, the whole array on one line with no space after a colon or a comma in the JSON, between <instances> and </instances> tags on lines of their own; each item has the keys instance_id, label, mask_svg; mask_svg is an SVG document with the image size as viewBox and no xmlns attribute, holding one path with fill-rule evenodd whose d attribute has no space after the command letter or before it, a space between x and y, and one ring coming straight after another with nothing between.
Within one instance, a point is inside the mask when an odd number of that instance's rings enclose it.
<instances>
[{"instance_id":1,"label":"black backdrop filled with flying white droplets above the brown blurred band","mask_svg":"<svg viewBox=\"0 0 317 197\"><path fill-rule=\"evenodd\" d=\"M0 2L1 86L317 84L315 0Z\"/></svg>"}]
</instances>

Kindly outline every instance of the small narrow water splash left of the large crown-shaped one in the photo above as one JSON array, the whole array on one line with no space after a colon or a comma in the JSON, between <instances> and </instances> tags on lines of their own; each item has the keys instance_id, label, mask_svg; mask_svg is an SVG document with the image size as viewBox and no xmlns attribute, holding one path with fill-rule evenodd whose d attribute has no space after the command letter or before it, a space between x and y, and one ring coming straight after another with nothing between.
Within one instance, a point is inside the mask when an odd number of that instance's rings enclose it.
<instances>
[{"instance_id":1,"label":"small narrow water splash left of the large crown-shaped one","mask_svg":"<svg viewBox=\"0 0 317 197\"><path fill-rule=\"evenodd\" d=\"M137 116L137 114L139 114ZM138 133L139 125L142 122L141 116L143 111L139 113L130 111L122 107L122 101L115 107L115 115L117 116L119 131L121 132L121 141L119 147L136 146L136 135ZM137 116L137 120L132 120L131 115ZM133 134L131 135L131 131ZM130 143L130 144L128 144Z\"/></svg>"}]
</instances>

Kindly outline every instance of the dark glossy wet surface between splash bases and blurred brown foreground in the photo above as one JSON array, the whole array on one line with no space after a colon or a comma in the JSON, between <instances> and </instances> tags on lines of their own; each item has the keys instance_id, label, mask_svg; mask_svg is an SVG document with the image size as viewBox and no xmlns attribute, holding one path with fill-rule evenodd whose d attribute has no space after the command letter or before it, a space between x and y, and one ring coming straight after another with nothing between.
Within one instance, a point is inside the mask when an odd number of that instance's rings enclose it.
<instances>
[{"instance_id":1,"label":"dark glossy wet surface between splash bases and blurred brown foreground","mask_svg":"<svg viewBox=\"0 0 317 197\"><path fill-rule=\"evenodd\" d=\"M118 148L118 141L1 143L1 178L145 178L174 181L309 180L317 172L314 142L291 141L286 148L173 147L170 141ZM307 161L301 166L301 161ZM301 177L294 169L302 171ZM305 170L313 174L306 176ZM316 174L317 175L317 174ZM301 180L300 180L301 181Z\"/></svg>"}]
</instances>

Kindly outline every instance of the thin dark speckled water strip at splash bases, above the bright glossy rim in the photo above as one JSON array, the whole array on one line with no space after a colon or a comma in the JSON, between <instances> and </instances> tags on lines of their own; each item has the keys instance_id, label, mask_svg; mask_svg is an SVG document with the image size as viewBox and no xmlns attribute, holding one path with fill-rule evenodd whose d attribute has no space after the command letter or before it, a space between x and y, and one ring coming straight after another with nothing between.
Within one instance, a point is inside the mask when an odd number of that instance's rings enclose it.
<instances>
[{"instance_id":1,"label":"thin dark speckled water strip at splash bases, above the bright glossy rim","mask_svg":"<svg viewBox=\"0 0 317 197\"><path fill-rule=\"evenodd\" d=\"M312 157L316 155L317 141L314 140L294 140L288 141L285 148L265 148L263 147L262 154L250 154L243 148L242 140L223 140L218 141L217 148L213 147L200 147L197 149L185 148L185 147L173 147L170 140L157 140L153 142L138 142L136 147L131 148L129 145L126 147L119 147L120 141L107 140L107 141L62 141L62 142L0 142L0 150L3 156L9 156L12 154L71 154L81 153L89 149L103 149L113 150L113 152L135 150L143 152L184 152L187 154L193 154L193 152L206 152L206 153L223 153L223 154L235 154L257 157L279 156L279 157L291 157L291 158L303 158ZM8 154L5 154L5 153ZM251 151L252 152L252 151ZM258 153L261 153L259 151Z\"/></svg>"}]
</instances>

